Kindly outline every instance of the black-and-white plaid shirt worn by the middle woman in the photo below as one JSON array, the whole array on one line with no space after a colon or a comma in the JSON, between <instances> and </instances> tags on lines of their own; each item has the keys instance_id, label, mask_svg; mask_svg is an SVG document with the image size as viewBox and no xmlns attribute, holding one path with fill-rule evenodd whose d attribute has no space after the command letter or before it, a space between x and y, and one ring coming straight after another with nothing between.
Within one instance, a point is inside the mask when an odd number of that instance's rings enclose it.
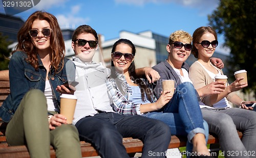
<instances>
[{"instance_id":1,"label":"black-and-white plaid shirt worn by the middle woman","mask_svg":"<svg viewBox=\"0 0 256 158\"><path fill-rule=\"evenodd\" d=\"M140 112L141 104L134 104L132 102L133 101L132 88L127 85L125 76L119 73L116 73L116 74L117 74L117 77L122 81L121 87L124 94L122 94L119 91L119 88L117 86L115 79L109 78L109 80L106 81L109 98L111 100L111 106L113 107L114 111L117 111L119 114L123 114L123 115L143 115L143 113ZM157 98L153 95L153 100L151 102L156 102L156 101L157 101Z\"/></svg>"}]
</instances>

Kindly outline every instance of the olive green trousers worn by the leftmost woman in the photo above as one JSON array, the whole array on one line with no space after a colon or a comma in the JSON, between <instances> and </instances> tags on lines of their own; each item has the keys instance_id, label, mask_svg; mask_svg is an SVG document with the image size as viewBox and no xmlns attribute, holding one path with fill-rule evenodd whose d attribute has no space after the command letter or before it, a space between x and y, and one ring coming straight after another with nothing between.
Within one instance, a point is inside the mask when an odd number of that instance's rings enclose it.
<instances>
[{"instance_id":1,"label":"olive green trousers worn by the leftmost woman","mask_svg":"<svg viewBox=\"0 0 256 158\"><path fill-rule=\"evenodd\" d=\"M56 157L82 157L74 125L62 124L49 129L46 97L38 89L30 90L23 97L7 125L6 139L10 146L27 145L31 157L50 157L50 144Z\"/></svg>"}]
</instances>

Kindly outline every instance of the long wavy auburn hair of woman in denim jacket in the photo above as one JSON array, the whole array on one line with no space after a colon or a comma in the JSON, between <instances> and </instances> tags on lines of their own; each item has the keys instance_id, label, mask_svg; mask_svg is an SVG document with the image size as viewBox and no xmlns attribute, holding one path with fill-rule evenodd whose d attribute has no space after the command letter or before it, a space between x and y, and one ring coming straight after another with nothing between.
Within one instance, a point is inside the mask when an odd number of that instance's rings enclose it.
<instances>
[{"instance_id":1,"label":"long wavy auburn hair of woman in denim jacket","mask_svg":"<svg viewBox=\"0 0 256 158\"><path fill-rule=\"evenodd\" d=\"M18 44L12 54L16 51L23 51L27 53L28 58L26 61L30 63L35 68L35 70L38 70L39 62L37 59L37 49L31 40L32 37L29 35L29 30L32 29L33 21L37 19L46 20L52 29L50 36L50 48L52 51L50 52L50 61L51 66L54 69L54 73L56 74L63 69L63 61L66 52L65 42L58 25L57 18L50 13L36 11L29 16L23 27L18 31Z\"/></svg>"}]
</instances>

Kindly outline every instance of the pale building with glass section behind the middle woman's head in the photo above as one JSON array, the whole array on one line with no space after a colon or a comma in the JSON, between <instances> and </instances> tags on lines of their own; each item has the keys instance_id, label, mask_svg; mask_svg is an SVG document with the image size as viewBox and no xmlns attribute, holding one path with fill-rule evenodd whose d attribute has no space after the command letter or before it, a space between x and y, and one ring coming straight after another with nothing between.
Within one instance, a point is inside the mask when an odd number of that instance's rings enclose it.
<instances>
[{"instance_id":1,"label":"pale building with glass section behind the middle woman's head","mask_svg":"<svg viewBox=\"0 0 256 158\"><path fill-rule=\"evenodd\" d=\"M126 38L131 40L136 47L135 64L136 67L154 66L168 57L166 51L166 45L168 44L169 37L153 33L152 31L144 31L138 34L121 31L119 37L111 40L101 40L102 56L106 64L110 63L112 46L120 38ZM213 57L222 59L226 63L227 55L215 51ZM194 55L190 55L186 62L191 65L197 59ZM223 69L224 74L227 74L227 70Z\"/></svg>"}]
</instances>

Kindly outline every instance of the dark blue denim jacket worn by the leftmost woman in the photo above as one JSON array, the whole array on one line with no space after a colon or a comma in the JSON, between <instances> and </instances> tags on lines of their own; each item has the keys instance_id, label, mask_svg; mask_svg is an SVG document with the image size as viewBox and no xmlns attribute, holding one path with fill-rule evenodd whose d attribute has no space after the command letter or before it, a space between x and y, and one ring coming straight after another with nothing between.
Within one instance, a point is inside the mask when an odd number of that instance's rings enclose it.
<instances>
[{"instance_id":1,"label":"dark blue denim jacket worn by the leftmost woman","mask_svg":"<svg viewBox=\"0 0 256 158\"><path fill-rule=\"evenodd\" d=\"M40 89L42 92L45 92L46 68L42 64L39 55L37 55L39 62L38 70L35 70L34 67L26 61L27 57L27 54L21 51L15 52L11 57L9 63L11 93L4 101L3 105L0 106L0 117L5 122L11 120L20 101L30 89ZM50 69L48 74L48 79L58 103L58 110L60 93L56 91L57 85L61 85L67 81L67 76L75 77L74 63L69 59L65 59L64 62L65 65L59 73L54 75L54 70ZM66 72L70 73L67 74Z\"/></svg>"}]
</instances>

